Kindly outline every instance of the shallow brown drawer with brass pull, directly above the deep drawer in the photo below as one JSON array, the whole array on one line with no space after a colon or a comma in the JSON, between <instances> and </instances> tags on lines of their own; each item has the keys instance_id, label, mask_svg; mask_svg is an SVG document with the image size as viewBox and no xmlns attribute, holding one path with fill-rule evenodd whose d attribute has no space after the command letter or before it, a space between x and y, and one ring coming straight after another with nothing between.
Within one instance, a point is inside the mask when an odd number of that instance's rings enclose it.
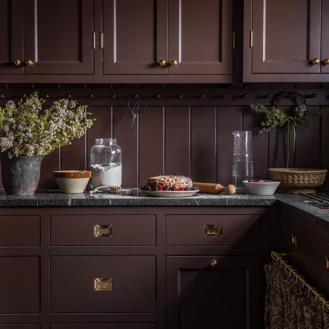
<instances>
[{"instance_id":1,"label":"shallow brown drawer with brass pull, directly above the deep drawer","mask_svg":"<svg viewBox=\"0 0 329 329\"><path fill-rule=\"evenodd\" d=\"M53 215L50 244L155 245L155 215Z\"/></svg>"}]
</instances>

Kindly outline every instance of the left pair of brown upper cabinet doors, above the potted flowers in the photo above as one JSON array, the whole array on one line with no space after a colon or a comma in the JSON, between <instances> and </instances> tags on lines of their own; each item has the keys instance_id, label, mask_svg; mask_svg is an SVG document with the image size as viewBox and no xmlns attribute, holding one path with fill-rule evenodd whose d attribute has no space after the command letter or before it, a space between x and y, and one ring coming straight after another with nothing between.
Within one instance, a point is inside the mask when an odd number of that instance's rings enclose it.
<instances>
[{"instance_id":1,"label":"left pair of brown upper cabinet doors, above the potted flowers","mask_svg":"<svg viewBox=\"0 0 329 329\"><path fill-rule=\"evenodd\" d=\"M0 22L0 74L93 74L92 1L7 0L0 10L9 13Z\"/></svg>"}]
</instances>

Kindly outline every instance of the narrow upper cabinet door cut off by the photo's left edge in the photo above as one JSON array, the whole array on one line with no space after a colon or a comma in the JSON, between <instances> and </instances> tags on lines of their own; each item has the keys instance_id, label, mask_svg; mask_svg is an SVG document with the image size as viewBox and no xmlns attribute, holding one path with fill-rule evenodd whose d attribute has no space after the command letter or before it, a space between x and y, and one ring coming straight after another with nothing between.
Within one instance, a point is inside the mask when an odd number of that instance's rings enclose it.
<instances>
[{"instance_id":1,"label":"narrow upper cabinet door cut off by the photo's left edge","mask_svg":"<svg viewBox=\"0 0 329 329\"><path fill-rule=\"evenodd\" d=\"M0 13L0 74L23 74L23 0L0 1Z\"/></svg>"}]
</instances>

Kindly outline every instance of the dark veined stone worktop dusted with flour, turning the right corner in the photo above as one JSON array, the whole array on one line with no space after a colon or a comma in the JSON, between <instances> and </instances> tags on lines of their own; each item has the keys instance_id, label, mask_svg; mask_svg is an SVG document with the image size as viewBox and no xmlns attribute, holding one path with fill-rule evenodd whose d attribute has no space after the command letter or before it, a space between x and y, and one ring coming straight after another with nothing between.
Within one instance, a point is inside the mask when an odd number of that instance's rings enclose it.
<instances>
[{"instance_id":1,"label":"dark veined stone worktop dusted with flour, turning the right corner","mask_svg":"<svg viewBox=\"0 0 329 329\"><path fill-rule=\"evenodd\" d=\"M132 189L134 195L108 192L65 194L60 190L37 190L32 195L6 195L0 190L0 207L31 207L31 206L292 206L299 210L323 219L328 223L329 212L320 209L329 208L329 201L318 202L307 195L275 193L274 195L228 195L195 193L186 197L150 197L139 189ZM326 225L327 226L327 225Z\"/></svg>"}]
</instances>

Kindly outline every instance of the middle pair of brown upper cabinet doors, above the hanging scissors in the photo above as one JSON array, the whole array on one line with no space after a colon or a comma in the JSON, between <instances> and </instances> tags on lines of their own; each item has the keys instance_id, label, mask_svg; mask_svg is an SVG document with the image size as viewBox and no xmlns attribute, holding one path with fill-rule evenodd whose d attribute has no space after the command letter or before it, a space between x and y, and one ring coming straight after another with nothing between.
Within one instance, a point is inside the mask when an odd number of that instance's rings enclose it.
<instances>
[{"instance_id":1,"label":"middle pair of brown upper cabinet doors, above the hanging scissors","mask_svg":"<svg viewBox=\"0 0 329 329\"><path fill-rule=\"evenodd\" d=\"M103 74L233 73L229 0L103 1L103 34Z\"/></svg>"}]
</instances>

